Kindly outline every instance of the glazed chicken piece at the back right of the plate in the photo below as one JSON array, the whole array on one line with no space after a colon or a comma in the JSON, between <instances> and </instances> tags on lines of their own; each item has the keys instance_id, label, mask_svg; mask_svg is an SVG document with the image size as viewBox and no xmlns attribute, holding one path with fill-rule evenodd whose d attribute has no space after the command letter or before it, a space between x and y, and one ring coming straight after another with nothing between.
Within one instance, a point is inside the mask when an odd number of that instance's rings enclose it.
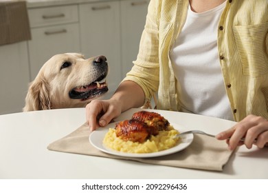
<instances>
[{"instance_id":1,"label":"glazed chicken piece at the back right of the plate","mask_svg":"<svg viewBox=\"0 0 268 193\"><path fill-rule=\"evenodd\" d=\"M168 130L170 123L163 116L156 112L139 111L135 112L132 119L147 123L147 125L157 128L157 130Z\"/></svg>"}]
</instances>

